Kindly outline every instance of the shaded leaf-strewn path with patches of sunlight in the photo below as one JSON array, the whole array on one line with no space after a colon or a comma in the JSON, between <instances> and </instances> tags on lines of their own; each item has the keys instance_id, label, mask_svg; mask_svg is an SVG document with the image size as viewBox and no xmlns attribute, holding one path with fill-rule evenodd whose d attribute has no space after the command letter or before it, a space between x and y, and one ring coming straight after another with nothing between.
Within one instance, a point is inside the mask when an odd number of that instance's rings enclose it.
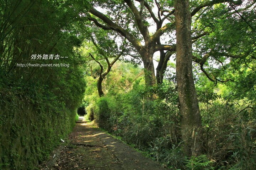
<instances>
[{"instance_id":1,"label":"shaded leaf-strewn path with patches of sunlight","mask_svg":"<svg viewBox=\"0 0 256 170\"><path fill-rule=\"evenodd\" d=\"M81 118L66 146L57 148L41 170L164 170L135 149L93 127Z\"/></svg>"}]
</instances>

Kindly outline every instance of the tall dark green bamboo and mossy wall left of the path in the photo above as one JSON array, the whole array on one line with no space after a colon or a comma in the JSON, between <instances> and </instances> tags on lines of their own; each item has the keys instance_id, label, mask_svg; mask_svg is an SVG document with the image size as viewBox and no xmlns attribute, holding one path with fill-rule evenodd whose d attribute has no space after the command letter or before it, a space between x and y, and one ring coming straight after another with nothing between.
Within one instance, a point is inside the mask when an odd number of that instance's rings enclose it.
<instances>
[{"instance_id":1,"label":"tall dark green bamboo and mossy wall left of the path","mask_svg":"<svg viewBox=\"0 0 256 170\"><path fill-rule=\"evenodd\" d=\"M68 1L1 1L0 11L0 169L34 169L72 130L82 101L78 13Z\"/></svg>"}]
</instances>

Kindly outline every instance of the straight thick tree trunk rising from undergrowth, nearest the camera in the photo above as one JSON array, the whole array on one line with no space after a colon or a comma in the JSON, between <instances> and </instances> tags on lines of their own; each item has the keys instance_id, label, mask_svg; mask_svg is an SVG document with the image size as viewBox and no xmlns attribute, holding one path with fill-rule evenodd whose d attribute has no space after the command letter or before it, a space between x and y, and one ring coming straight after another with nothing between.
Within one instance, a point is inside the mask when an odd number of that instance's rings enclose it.
<instances>
[{"instance_id":1,"label":"straight thick tree trunk rising from undergrowth, nearest the camera","mask_svg":"<svg viewBox=\"0 0 256 170\"><path fill-rule=\"evenodd\" d=\"M191 15L189 0L175 0L176 76L180 101L181 133L186 156L202 153L201 115L192 74Z\"/></svg>"}]
</instances>

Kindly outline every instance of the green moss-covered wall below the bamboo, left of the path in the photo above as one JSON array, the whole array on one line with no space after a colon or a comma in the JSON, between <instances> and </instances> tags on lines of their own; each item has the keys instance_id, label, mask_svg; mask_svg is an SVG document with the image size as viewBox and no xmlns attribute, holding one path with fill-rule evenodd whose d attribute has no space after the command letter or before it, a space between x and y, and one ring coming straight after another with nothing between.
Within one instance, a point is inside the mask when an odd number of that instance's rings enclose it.
<instances>
[{"instance_id":1,"label":"green moss-covered wall below the bamboo, left of the path","mask_svg":"<svg viewBox=\"0 0 256 170\"><path fill-rule=\"evenodd\" d=\"M58 109L44 110L22 98L1 106L0 169L3 170L34 169L74 126L75 109L55 106Z\"/></svg>"}]
</instances>

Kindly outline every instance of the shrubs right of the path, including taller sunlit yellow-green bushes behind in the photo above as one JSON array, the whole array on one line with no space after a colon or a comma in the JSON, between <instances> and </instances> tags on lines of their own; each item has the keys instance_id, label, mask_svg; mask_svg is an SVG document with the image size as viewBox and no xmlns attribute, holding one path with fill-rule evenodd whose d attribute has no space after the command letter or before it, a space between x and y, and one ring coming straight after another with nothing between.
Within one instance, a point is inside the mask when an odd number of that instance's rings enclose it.
<instances>
[{"instance_id":1,"label":"shrubs right of the path, including taller sunlit yellow-green bushes behind","mask_svg":"<svg viewBox=\"0 0 256 170\"><path fill-rule=\"evenodd\" d=\"M207 157L186 158L181 151L181 117L175 77L169 75L162 85L148 89L139 74L141 70L118 63L103 82L107 93L101 98L97 95L95 79L88 76L90 83L85 100L89 102L86 108L89 119L95 119L101 128L121 136L170 168L255 169L254 99L230 92L232 82L214 86L200 75L196 87L202 115L203 150ZM159 98L146 100L148 92L152 91Z\"/></svg>"}]
</instances>

